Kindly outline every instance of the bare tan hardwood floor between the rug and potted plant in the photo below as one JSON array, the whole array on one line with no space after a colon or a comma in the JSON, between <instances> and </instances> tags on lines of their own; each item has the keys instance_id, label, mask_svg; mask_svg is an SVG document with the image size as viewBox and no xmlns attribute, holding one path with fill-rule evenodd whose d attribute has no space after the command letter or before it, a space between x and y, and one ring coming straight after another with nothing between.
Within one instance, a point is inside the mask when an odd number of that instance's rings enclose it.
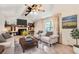
<instances>
[{"instance_id":1,"label":"bare tan hardwood floor between the rug and potted plant","mask_svg":"<svg viewBox=\"0 0 79 59\"><path fill-rule=\"evenodd\" d=\"M73 48L71 46L63 44L55 44L54 49L58 54L73 54Z\"/></svg>"}]
</instances>

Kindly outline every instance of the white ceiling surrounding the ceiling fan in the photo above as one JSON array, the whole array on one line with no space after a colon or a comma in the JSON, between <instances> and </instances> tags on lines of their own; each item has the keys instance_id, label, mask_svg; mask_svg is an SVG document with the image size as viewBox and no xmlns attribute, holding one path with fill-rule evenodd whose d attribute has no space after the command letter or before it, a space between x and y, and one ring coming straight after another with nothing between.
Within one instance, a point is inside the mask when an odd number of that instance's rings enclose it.
<instances>
[{"instance_id":1,"label":"white ceiling surrounding the ceiling fan","mask_svg":"<svg viewBox=\"0 0 79 59\"><path fill-rule=\"evenodd\" d=\"M0 5L0 18L14 23L17 18L27 19L28 22L39 20L52 15L53 5L43 4L45 12L39 12L38 14L30 13L28 16L21 15L24 12L24 4L1 4ZM1 18L1 19L2 19Z\"/></svg>"}]
</instances>

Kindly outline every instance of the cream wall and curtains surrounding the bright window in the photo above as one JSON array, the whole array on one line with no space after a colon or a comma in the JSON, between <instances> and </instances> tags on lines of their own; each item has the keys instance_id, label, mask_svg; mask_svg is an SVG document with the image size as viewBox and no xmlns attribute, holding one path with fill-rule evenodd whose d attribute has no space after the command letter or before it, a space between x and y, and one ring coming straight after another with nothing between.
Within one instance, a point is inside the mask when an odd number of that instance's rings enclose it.
<instances>
[{"instance_id":1,"label":"cream wall and curtains surrounding the bright window","mask_svg":"<svg viewBox=\"0 0 79 59\"><path fill-rule=\"evenodd\" d=\"M52 15L51 15L52 16ZM53 34L58 34L58 25L57 25L57 18L56 17L46 17L44 19L40 19L37 22L35 22L35 35L39 30L42 30L43 32L45 32L45 20L51 20L52 22L52 26L53 26Z\"/></svg>"}]
</instances>

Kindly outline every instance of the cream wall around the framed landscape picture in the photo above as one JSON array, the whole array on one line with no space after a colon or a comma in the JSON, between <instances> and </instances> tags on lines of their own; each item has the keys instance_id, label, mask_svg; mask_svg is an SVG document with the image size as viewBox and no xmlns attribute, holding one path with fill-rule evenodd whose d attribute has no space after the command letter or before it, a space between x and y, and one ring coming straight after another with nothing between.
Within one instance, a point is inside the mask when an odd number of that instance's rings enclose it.
<instances>
[{"instance_id":1,"label":"cream wall around the framed landscape picture","mask_svg":"<svg viewBox=\"0 0 79 59\"><path fill-rule=\"evenodd\" d=\"M53 15L61 13L60 24L62 26L62 17L77 15L77 25L79 28L79 5L54 5ZM63 29L61 27L62 43L65 45L75 44L75 39L72 39L70 33L72 29Z\"/></svg>"}]
</instances>

